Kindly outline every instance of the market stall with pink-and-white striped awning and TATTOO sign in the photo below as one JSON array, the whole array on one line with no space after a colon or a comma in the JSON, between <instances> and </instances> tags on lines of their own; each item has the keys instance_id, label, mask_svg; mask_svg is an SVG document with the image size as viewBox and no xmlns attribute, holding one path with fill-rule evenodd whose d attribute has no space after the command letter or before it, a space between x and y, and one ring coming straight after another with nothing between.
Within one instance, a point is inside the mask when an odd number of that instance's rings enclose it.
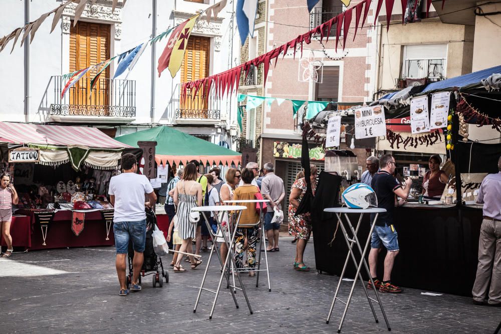
<instances>
[{"instance_id":1,"label":"market stall with pink-and-white striped awning and TATTOO sign","mask_svg":"<svg viewBox=\"0 0 501 334\"><path fill-rule=\"evenodd\" d=\"M97 128L0 122L0 169L20 197L14 246L113 245L107 186L126 148Z\"/></svg>"}]
</instances>

